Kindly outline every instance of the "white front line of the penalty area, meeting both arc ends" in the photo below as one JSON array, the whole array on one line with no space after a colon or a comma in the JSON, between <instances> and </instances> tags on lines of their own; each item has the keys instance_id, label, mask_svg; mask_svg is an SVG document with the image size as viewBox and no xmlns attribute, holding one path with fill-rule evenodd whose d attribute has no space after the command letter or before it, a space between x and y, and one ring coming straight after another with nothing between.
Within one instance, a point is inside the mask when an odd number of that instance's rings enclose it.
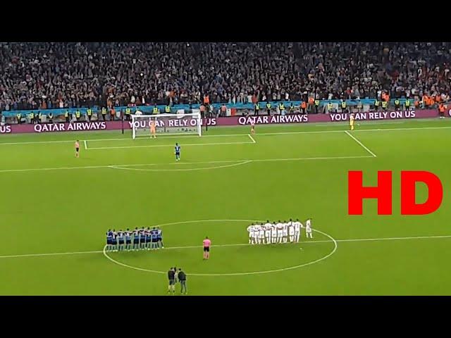
<instances>
[{"instance_id":1,"label":"white front line of the penalty area, meeting both arc ends","mask_svg":"<svg viewBox=\"0 0 451 338\"><path fill-rule=\"evenodd\" d=\"M247 144L251 144L250 142ZM92 148L89 148L91 150ZM27 168L27 169L6 169L0 170L0 173L20 173L25 171L46 171L46 170L73 170L73 169L101 169L111 167L132 167L141 165L182 165L182 164L201 164L201 163L230 163L230 162L276 162L276 161L314 161L314 160L341 160L350 158L373 158L373 156L330 156L330 157L301 157L301 158L257 158L257 159L239 159L227 161L201 161L201 162L177 162L177 163L140 163L140 164L110 164L110 165L86 165L79 167L59 167L59 168Z\"/></svg>"}]
</instances>

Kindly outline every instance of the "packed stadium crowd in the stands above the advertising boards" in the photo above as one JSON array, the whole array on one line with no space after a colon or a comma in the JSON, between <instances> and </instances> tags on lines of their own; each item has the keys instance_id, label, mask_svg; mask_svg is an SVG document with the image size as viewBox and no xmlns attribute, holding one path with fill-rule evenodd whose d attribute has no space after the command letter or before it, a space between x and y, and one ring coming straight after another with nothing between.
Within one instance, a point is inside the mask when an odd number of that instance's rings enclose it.
<instances>
[{"instance_id":1,"label":"packed stadium crowd in the stands above the advertising boards","mask_svg":"<svg viewBox=\"0 0 451 338\"><path fill-rule=\"evenodd\" d=\"M451 95L451 43L0 44L0 111Z\"/></svg>"}]
</instances>

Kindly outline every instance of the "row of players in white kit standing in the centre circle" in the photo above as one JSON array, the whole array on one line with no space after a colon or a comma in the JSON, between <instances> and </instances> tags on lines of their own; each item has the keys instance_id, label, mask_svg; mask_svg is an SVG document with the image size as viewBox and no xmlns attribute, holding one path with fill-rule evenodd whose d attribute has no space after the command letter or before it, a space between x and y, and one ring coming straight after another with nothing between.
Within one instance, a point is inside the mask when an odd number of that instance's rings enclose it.
<instances>
[{"instance_id":1,"label":"row of players in white kit standing in the centre circle","mask_svg":"<svg viewBox=\"0 0 451 338\"><path fill-rule=\"evenodd\" d=\"M265 224L253 224L247 227L249 232L249 244L276 244L276 243L294 243L299 242L301 228L304 225L299 219L289 222L269 222ZM313 238L311 234L311 218L305 222L305 237Z\"/></svg>"}]
</instances>

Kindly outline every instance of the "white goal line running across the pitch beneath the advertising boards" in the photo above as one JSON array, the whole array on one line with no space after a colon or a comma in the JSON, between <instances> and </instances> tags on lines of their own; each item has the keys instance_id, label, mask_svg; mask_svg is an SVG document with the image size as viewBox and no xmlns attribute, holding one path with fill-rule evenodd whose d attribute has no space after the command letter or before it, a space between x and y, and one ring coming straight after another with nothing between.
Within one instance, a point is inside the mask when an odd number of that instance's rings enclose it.
<instances>
[{"instance_id":1,"label":"white goal line running across the pitch beneath the advertising boards","mask_svg":"<svg viewBox=\"0 0 451 338\"><path fill-rule=\"evenodd\" d=\"M382 131L392 131L392 130L435 130L435 129L450 129L451 126L448 127L412 127L412 128L384 128L384 129L359 129L354 130L354 132L382 132ZM329 132L343 132L343 130L309 130L309 131L301 131L301 132L259 132L259 136L264 135L285 135L285 134L321 134L321 133L329 133ZM202 135L202 137L228 137L228 136L246 136L247 134L214 134L214 135ZM166 136L168 138L170 136ZM184 136L181 137L193 137L193 136ZM88 142L96 142L96 141L123 141L130 140L129 138L115 138L115 139L87 139ZM135 140L136 141L136 140ZM20 145L20 144L47 144L47 143L66 143L73 142L72 140L61 140L61 141L35 141L35 142L0 142L0 146L9 146L9 145ZM90 148L89 148L90 149Z\"/></svg>"}]
</instances>

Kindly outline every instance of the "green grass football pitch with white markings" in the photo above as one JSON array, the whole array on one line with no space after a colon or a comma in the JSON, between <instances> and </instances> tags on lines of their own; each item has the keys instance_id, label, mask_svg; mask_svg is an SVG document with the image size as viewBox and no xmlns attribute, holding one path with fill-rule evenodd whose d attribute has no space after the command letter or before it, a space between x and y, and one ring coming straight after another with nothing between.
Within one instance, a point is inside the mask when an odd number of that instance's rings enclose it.
<instances>
[{"instance_id":1,"label":"green grass football pitch with white markings","mask_svg":"<svg viewBox=\"0 0 451 338\"><path fill-rule=\"evenodd\" d=\"M211 127L202 137L126 132L0 138L0 294L451 294L451 120ZM80 139L80 158L73 142ZM182 147L175 162L173 146ZM393 170L393 215L347 215L347 172ZM443 183L430 215L400 215L400 171ZM417 202L427 188L419 184ZM314 238L249 245L255 221L313 218ZM104 252L105 232L160 226L164 249ZM211 257L202 259L202 240ZM177 293L180 285L176 286Z\"/></svg>"}]
</instances>

